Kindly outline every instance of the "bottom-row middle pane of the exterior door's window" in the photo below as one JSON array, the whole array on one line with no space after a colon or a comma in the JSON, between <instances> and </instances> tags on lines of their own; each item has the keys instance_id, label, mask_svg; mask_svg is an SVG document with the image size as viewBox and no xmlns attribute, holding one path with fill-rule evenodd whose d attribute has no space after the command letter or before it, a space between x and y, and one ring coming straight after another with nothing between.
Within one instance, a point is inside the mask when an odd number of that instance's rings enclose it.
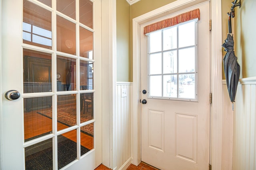
<instances>
[{"instance_id":1,"label":"bottom-row middle pane of the exterior door's window","mask_svg":"<svg viewBox=\"0 0 256 170\"><path fill-rule=\"evenodd\" d=\"M164 97L177 98L177 75L164 76Z\"/></svg>"}]
</instances>

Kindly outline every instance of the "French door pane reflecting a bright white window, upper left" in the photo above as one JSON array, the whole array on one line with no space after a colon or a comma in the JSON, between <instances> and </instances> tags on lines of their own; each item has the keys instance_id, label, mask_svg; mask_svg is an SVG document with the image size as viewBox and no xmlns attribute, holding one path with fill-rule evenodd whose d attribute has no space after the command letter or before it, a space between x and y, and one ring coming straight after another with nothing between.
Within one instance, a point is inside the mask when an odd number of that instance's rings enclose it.
<instances>
[{"instance_id":1,"label":"French door pane reflecting a bright white window, upper left","mask_svg":"<svg viewBox=\"0 0 256 170\"><path fill-rule=\"evenodd\" d=\"M31 25L33 29L31 30ZM35 29L35 30L34 30ZM23 37L23 43L36 45L47 49L52 49L52 12L24 0L23 2L23 30L31 33L36 33L46 38L39 38L33 35L32 39ZM35 38L35 39L34 39Z\"/></svg>"}]
</instances>

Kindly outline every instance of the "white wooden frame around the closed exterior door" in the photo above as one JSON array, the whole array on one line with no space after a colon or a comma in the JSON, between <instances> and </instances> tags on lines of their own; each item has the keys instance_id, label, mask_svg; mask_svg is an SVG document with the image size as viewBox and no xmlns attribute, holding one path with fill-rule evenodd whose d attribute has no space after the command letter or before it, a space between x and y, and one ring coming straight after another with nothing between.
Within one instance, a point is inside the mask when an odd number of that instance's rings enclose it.
<instances>
[{"instance_id":1,"label":"white wooden frame around the closed exterior door","mask_svg":"<svg viewBox=\"0 0 256 170\"><path fill-rule=\"evenodd\" d=\"M182 8L200 4L209 0L177 0L166 6L138 16L132 20L133 38L133 102L132 102L132 163L141 162L141 108L140 108L140 25L156 18L172 14ZM223 120L222 114L222 19L221 0L211 0L211 47L210 47L210 72L212 104L210 106L210 164L213 170L222 169L223 153ZM213 149L214 148L214 149ZM232 160L228 160L232 161Z\"/></svg>"}]
</instances>

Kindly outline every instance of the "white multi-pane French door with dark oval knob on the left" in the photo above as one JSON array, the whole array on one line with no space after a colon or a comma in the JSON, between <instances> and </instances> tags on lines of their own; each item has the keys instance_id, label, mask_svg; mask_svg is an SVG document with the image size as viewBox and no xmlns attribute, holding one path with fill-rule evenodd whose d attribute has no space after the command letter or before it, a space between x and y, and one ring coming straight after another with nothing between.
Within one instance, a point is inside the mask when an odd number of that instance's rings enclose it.
<instances>
[{"instance_id":1,"label":"white multi-pane French door with dark oval knob on the left","mask_svg":"<svg viewBox=\"0 0 256 170\"><path fill-rule=\"evenodd\" d=\"M102 161L101 1L5 0L1 10L1 168L93 170Z\"/></svg>"}]
</instances>

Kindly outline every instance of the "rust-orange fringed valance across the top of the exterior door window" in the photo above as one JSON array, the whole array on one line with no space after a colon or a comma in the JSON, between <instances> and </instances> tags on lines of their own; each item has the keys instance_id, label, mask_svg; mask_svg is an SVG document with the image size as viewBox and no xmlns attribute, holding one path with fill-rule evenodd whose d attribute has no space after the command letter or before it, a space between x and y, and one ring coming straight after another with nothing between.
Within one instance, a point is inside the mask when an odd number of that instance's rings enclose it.
<instances>
[{"instance_id":1,"label":"rust-orange fringed valance across the top of the exterior door window","mask_svg":"<svg viewBox=\"0 0 256 170\"><path fill-rule=\"evenodd\" d=\"M146 33L150 33L152 31L156 31L158 29L163 29L166 27L171 27L171 26L177 25L182 22L193 20L195 18L198 18L198 20L200 20L200 10L199 9L195 9L195 10L180 14L176 17L168 18L166 20L162 20L162 21L147 25L146 27L144 27L144 35Z\"/></svg>"}]
</instances>

